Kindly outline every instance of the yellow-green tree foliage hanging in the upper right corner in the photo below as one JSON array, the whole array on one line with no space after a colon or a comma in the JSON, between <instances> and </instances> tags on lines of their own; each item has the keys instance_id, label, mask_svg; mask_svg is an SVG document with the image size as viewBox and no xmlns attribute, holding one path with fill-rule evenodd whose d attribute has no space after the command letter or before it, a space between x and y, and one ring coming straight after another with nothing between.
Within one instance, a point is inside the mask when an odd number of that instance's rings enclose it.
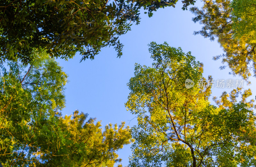
<instances>
[{"instance_id":1,"label":"yellow-green tree foliage hanging in the upper right corner","mask_svg":"<svg viewBox=\"0 0 256 167\"><path fill-rule=\"evenodd\" d=\"M203 3L202 9L191 8L196 15L193 21L203 25L202 30L195 34L211 40L218 38L224 54L214 59L222 57L222 62L228 64L232 74L246 80L251 75L255 76L255 1L203 0Z\"/></svg>"}]
</instances>

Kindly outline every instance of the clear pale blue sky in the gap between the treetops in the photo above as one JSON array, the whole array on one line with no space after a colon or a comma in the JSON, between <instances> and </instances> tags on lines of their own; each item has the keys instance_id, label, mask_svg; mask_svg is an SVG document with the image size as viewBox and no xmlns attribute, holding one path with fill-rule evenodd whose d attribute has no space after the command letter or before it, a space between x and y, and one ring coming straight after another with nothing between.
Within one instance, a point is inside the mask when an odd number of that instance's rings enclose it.
<instances>
[{"instance_id":1,"label":"clear pale blue sky in the gap between the treetops","mask_svg":"<svg viewBox=\"0 0 256 167\"><path fill-rule=\"evenodd\" d=\"M201 6L197 1L195 6ZM204 63L204 77L212 75L213 79L235 79L228 75L230 69L220 70L221 61L213 61L212 57L222 54L223 51L216 41L205 39L193 32L201 29L191 19L194 15L190 11L182 11L181 1L176 7L168 7L154 12L153 17L141 14L139 25L132 25L132 30L120 37L124 44L123 55L116 58L114 48L104 48L96 55L94 60L79 63L81 56L77 54L67 61L57 59L64 71L69 75L66 86L66 108L63 115L70 115L76 109L89 113L89 117L101 120L102 126L106 124L125 121L130 127L136 125L135 115L126 111L124 103L127 101L129 89L127 83L134 73L134 64L151 66L152 60L148 52L148 44L155 41L158 44L166 41L171 47L181 47L184 52L191 51L196 60ZM141 11L141 13L144 13ZM251 78L252 83L255 79ZM252 98L255 89L252 88ZM221 92L230 92L232 89L213 88L212 95L219 97ZM133 119L133 120L132 120ZM129 164L131 145L119 151L123 159L123 166Z\"/></svg>"}]
</instances>

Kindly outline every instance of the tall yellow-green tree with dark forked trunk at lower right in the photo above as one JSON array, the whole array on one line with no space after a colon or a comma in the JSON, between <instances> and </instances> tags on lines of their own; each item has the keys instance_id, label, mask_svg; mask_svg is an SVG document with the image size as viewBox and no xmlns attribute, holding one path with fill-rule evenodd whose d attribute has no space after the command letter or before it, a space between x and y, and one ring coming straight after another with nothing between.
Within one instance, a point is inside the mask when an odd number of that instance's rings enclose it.
<instances>
[{"instance_id":1,"label":"tall yellow-green tree with dark forked trunk at lower right","mask_svg":"<svg viewBox=\"0 0 256 167\"><path fill-rule=\"evenodd\" d=\"M211 85L185 87L186 79L205 79L190 52L167 43L149 46L152 67L136 64L128 83L125 105L138 120L131 130L130 166L255 165L255 106L254 100L246 101L250 90L224 92L214 98L217 106L211 105Z\"/></svg>"}]
</instances>

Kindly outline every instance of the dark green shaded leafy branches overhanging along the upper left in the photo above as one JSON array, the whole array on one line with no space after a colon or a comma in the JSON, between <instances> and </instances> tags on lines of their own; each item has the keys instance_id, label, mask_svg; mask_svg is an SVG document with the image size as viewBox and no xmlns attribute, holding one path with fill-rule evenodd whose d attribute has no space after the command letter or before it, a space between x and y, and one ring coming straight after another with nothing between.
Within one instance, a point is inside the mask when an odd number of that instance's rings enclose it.
<instances>
[{"instance_id":1,"label":"dark green shaded leafy branches overhanging along the upper left","mask_svg":"<svg viewBox=\"0 0 256 167\"><path fill-rule=\"evenodd\" d=\"M123 45L118 37L139 24L140 9L148 16L177 0L6 0L0 2L0 60L32 61L33 49L54 57L94 59L102 47ZM195 1L185 0L183 10Z\"/></svg>"}]
</instances>

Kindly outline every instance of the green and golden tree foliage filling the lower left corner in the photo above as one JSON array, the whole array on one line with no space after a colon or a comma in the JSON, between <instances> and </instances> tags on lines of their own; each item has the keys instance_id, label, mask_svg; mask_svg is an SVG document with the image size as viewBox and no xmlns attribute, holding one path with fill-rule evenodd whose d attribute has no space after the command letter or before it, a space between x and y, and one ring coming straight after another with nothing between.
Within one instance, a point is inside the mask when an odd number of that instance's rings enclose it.
<instances>
[{"instance_id":1,"label":"green and golden tree foliage filling the lower left corner","mask_svg":"<svg viewBox=\"0 0 256 167\"><path fill-rule=\"evenodd\" d=\"M36 53L35 53L36 54ZM98 166L121 162L129 127L78 113L62 117L67 74L47 54L28 65L8 62L0 73L0 162L4 166ZM119 165L121 166L121 165Z\"/></svg>"}]
</instances>

